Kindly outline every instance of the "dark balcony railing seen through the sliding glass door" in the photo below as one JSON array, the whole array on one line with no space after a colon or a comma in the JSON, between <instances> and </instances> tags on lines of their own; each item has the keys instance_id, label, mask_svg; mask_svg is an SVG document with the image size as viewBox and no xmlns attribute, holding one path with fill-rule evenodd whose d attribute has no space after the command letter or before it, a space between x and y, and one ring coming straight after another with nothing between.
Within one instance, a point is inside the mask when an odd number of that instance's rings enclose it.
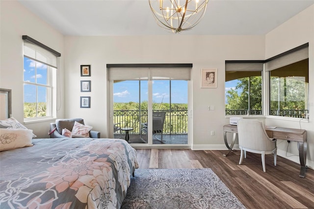
<instances>
[{"instance_id":1,"label":"dark balcony railing seen through the sliding glass door","mask_svg":"<svg viewBox=\"0 0 314 209\"><path fill-rule=\"evenodd\" d=\"M166 111L163 133L187 133L187 110L154 110ZM113 110L113 122L121 127L132 127L132 134L140 133L140 124L148 121L147 110Z\"/></svg>"}]
</instances>

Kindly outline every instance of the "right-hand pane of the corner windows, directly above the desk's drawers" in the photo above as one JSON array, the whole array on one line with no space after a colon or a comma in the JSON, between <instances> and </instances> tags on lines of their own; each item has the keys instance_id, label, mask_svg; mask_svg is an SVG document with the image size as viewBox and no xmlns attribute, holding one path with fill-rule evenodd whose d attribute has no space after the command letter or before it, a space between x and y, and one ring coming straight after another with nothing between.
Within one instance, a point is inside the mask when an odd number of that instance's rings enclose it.
<instances>
[{"instance_id":1,"label":"right-hand pane of the corner windows, directly above the desk's drawers","mask_svg":"<svg viewBox=\"0 0 314 209\"><path fill-rule=\"evenodd\" d=\"M269 115L307 118L309 55L307 45L299 48L265 63L269 73Z\"/></svg>"}]
</instances>

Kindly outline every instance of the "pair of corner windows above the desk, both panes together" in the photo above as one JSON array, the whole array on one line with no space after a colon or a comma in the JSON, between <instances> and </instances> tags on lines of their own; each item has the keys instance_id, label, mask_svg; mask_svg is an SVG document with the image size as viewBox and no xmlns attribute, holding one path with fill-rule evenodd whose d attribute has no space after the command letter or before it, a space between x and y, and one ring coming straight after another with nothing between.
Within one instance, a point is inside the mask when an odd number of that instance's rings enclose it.
<instances>
[{"instance_id":1,"label":"pair of corner windows above the desk, both panes together","mask_svg":"<svg viewBox=\"0 0 314 209\"><path fill-rule=\"evenodd\" d=\"M225 75L226 115L308 118L308 43L267 60L226 60Z\"/></svg>"}]
</instances>

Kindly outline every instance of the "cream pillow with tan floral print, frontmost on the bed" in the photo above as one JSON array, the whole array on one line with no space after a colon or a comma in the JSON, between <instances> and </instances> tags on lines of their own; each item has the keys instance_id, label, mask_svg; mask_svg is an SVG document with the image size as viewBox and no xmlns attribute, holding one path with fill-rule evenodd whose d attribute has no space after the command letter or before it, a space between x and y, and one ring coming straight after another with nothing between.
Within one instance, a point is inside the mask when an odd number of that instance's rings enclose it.
<instances>
[{"instance_id":1,"label":"cream pillow with tan floral print, frontmost on the bed","mask_svg":"<svg viewBox=\"0 0 314 209\"><path fill-rule=\"evenodd\" d=\"M32 135L29 129L0 129L0 151L33 146Z\"/></svg>"}]
</instances>

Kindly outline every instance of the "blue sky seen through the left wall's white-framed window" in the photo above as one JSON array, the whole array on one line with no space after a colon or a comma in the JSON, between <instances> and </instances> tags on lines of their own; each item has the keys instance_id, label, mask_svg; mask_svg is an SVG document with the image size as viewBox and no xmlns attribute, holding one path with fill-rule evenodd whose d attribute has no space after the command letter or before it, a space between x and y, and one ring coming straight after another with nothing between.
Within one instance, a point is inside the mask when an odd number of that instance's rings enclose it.
<instances>
[{"instance_id":1,"label":"blue sky seen through the left wall's white-framed window","mask_svg":"<svg viewBox=\"0 0 314 209\"><path fill-rule=\"evenodd\" d=\"M37 67L37 72L35 67ZM47 65L24 57L24 80L35 82L36 77L37 83L47 84ZM36 88L33 85L24 85L24 92L24 102L36 102ZM46 88L44 87L38 88L38 102L46 102Z\"/></svg>"}]
</instances>

